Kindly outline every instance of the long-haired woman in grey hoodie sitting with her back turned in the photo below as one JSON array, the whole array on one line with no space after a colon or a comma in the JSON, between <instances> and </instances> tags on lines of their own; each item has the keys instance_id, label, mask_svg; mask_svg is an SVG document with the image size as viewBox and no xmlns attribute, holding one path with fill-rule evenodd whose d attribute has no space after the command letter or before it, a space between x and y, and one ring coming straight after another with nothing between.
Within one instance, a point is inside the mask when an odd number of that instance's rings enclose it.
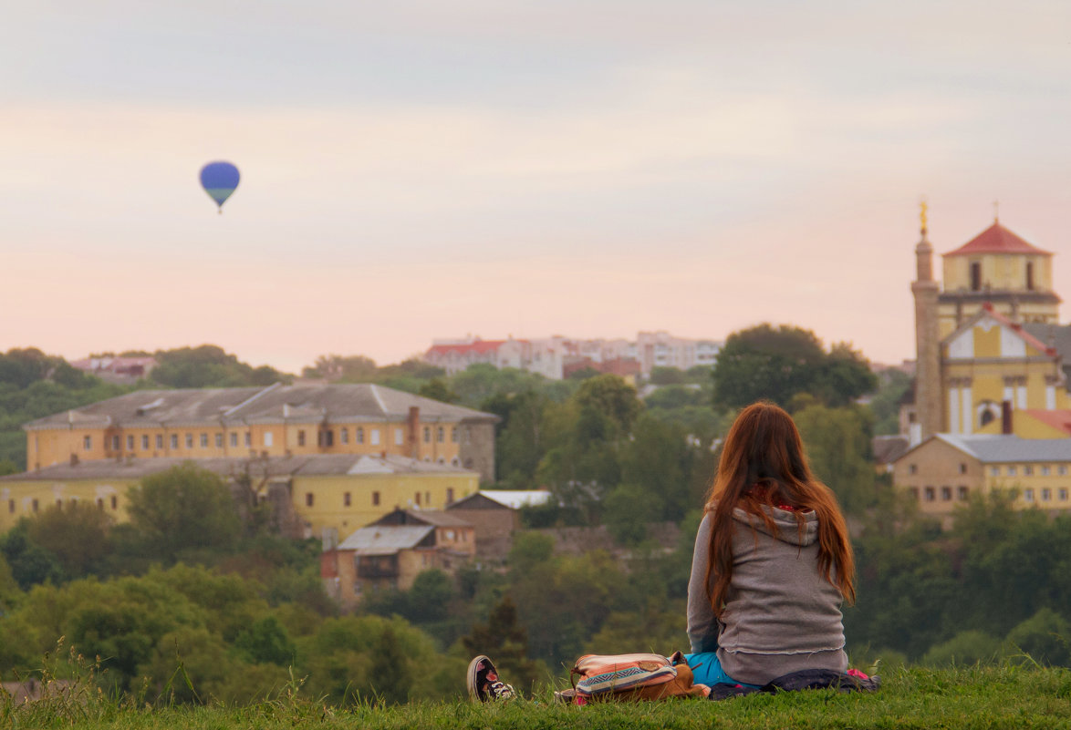
<instances>
[{"instance_id":1,"label":"long-haired woman in grey hoodie sitting with her back turned","mask_svg":"<svg viewBox=\"0 0 1071 730\"><path fill-rule=\"evenodd\" d=\"M740 412L705 513L688 585L695 682L748 687L804 669L844 672L851 543L788 413L769 402Z\"/></svg>"}]
</instances>

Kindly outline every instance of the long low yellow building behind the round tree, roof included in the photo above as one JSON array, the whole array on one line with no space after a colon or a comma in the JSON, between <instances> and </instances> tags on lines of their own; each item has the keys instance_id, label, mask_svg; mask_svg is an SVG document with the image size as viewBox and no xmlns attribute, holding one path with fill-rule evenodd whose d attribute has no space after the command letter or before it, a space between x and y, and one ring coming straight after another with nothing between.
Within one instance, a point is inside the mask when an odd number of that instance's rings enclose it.
<instances>
[{"instance_id":1,"label":"long low yellow building behind the round tree, roof included","mask_svg":"<svg viewBox=\"0 0 1071 730\"><path fill-rule=\"evenodd\" d=\"M0 477L0 532L52 504L86 501L126 520L127 495L142 478L182 463L149 457L58 463ZM397 508L437 508L476 493L480 474L396 455L312 454L220 457L195 463L231 484L247 482L270 502L284 532L333 543Z\"/></svg>"}]
</instances>

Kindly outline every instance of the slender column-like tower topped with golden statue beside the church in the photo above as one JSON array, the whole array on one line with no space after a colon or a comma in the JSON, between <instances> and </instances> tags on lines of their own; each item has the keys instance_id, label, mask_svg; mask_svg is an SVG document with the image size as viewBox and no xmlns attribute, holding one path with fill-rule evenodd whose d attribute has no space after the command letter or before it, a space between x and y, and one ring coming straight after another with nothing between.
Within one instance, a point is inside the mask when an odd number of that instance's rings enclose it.
<instances>
[{"instance_id":1,"label":"slender column-like tower topped with golden statue beside the church","mask_svg":"<svg viewBox=\"0 0 1071 730\"><path fill-rule=\"evenodd\" d=\"M940 335L937 323L938 286L933 276L934 247L926 238L926 204L922 203L922 237L915 247L915 413L909 429L911 443L942 430L940 387Z\"/></svg>"}]
</instances>

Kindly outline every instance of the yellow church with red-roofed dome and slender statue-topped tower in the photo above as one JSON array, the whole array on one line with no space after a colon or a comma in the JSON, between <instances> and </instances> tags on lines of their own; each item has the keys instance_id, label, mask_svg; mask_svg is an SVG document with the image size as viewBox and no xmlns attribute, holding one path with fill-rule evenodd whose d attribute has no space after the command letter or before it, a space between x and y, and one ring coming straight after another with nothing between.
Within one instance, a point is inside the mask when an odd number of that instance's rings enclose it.
<instances>
[{"instance_id":1,"label":"yellow church with red-roofed dome and slender statue-topped tower","mask_svg":"<svg viewBox=\"0 0 1071 730\"><path fill-rule=\"evenodd\" d=\"M1071 326L1058 323L1053 254L995 219L941 256L922 215L915 247L916 380L901 414L911 445L935 434L1071 437Z\"/></svg>"}]
</instances>

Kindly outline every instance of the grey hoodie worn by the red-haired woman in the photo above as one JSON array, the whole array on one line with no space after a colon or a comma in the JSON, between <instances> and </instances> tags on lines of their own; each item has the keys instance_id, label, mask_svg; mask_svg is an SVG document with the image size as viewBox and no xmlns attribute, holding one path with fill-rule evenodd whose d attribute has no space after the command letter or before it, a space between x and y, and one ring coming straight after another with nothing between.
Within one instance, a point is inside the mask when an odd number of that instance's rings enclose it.
<instances>
[{"instance_id":1,"label":"grey hoodie worn by the red-haired woman","mask_svg":"<svg viewBox=\"0 0 1071 730\"><path fill-rule=\"evenodd\" d=\"M695 536L688 583L688 638L692 652L718 652L725 672L748 684L766 684L800 669L844 671L841 593L818 571L818 517L764 507L778 530L734 510L733 580L719 622L704 584L710 549L710 516ZM755 528L754 532L752 527Z\"/></svg>"}]
</instances>

